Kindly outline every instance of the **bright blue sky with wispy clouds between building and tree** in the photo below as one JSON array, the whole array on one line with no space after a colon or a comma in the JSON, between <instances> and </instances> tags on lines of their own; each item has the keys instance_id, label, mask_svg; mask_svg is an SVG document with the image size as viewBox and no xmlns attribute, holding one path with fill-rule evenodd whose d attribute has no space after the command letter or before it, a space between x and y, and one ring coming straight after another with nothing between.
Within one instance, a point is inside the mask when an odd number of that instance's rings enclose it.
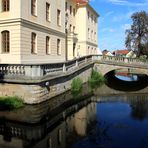
<instances>
[{"instance_id":1,"label":"bright blue sky with wispy clouds between building and tree","mask_svg":"<svg viewBox=\"0 0 148 148\"><path fill-rule=\"evenodd\" d=\"M148 0L90 0L100 14L98 44L101 50L125 49L125 30L132 23L134 12L148 12Z\"/></svg>"}]
</instances>

